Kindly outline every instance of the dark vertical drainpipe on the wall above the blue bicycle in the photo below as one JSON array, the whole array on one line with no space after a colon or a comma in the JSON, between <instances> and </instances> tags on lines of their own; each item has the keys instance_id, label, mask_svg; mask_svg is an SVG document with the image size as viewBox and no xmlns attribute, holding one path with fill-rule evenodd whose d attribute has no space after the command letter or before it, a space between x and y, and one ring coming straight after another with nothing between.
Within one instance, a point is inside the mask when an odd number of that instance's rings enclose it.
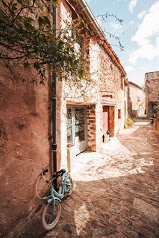
<instances>
[{"instance_id":1,"label":"dark vertical drainpipe on the wall above the blue bicycle","mask_svg":"<svg viewBox=\"0 0 159 238\"><path fill-rule=\"evenodd\" d=\"M53 27L56 26L56 7L53 6ZM54 30L56 34L56 30ZM52 153L51 153L51 173L57 171L57 143L56 143L56 72L52 66L52 83L51 83L51 105L52 105ZM54 180L56 187L57 181Z\"/></svg>"}]
</instances>

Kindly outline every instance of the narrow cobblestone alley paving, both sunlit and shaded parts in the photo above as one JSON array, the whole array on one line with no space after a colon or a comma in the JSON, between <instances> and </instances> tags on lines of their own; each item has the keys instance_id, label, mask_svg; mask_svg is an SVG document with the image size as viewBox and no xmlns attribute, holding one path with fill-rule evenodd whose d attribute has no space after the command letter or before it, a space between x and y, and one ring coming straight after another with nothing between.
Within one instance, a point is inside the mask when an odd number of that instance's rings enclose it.
<instances>
[{"instance_id":1,"label":"narrow cobblestone alley paving, both sunlit and shaded parts","mask_svg":"<svg viewBox=\"0 0 159 238\"><path fill-rule=\"evenodd\" d=\"M58 225L37 237L159 237L159 135L148 121L77 160L74 192Z\"/></svg>"}]
</instances>

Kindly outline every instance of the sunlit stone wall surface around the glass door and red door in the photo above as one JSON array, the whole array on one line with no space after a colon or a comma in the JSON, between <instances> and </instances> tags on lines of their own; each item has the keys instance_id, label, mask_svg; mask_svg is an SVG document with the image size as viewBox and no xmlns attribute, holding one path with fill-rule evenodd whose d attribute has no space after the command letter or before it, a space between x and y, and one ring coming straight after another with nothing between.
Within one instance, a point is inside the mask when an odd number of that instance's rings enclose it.
<instances>
[{"instance_id":1,"label":"sunlit stone wall surface around the glass door and red door","mask_svg":"<svg viewBox=\"0 0 159 238\"><path fill-rule=\"evenodd\" d=\"M71 10L62 2L64 16L71 16ZM110 56L105 52L104 48L95 36L87 35L83 41L83 49L87 52L85 55L89 70L91 73L91 81L68 81L62 82L62 94L60 90L57 92L58 98L61 97L61 103L58 108L58 141L59 152L61 158L61 166L67 168L67 126L66 126L66 109L67 106L86 106L87 108L87 149L98 151L102 143L103 136L103 99L106 96L106 105L108 103L110 114L110 130L111 136L124 128L124 100L127 101L127 95L124 94L124 78L116 64L111 60ZM84 52L85 52L84 51ZM111 102L108 102L111 95ZM108 97L107 97L108 96ZM105 103L105 102L104 102ZM110 104L109 104L110 103ZM118 110L121 111L120 118Z\"/></svg>"}]
</instances>

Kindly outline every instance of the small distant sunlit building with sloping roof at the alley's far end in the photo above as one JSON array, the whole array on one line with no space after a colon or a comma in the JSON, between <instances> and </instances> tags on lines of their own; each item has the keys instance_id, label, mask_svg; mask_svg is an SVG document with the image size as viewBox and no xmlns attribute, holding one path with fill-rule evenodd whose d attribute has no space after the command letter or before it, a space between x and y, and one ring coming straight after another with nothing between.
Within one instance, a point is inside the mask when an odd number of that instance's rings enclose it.
<instances>
[{"instance_id":1,"label":"small distant sunlit building with sloping roof at the alley's far end","mask_svg":"<svg viewBox=\"0 0 159 238\"><path fill-rule=\"evenodd\" d=\"M128 101L130 117L145 115L145 92L133 82L129 82Z\"/></svg>"}]
</instances>

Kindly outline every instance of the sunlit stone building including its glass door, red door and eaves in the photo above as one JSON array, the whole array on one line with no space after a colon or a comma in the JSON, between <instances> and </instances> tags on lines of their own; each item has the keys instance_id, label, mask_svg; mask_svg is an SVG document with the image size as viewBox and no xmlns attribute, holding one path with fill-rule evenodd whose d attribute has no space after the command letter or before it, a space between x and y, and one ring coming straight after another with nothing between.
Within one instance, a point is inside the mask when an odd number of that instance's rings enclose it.
<instances>
[{"instance_id":1,"label":"sunlit stone building including its glass door, red door and eaves","mask_svg":"<svg viewBox=\"0 0 159 238\"><path fill-rule=\"evenodd\" d=\"M67 167L67 151L72 160L84 150L98 151L107 142L108 133L116 136L124 128L127 116L126 73L84 1L61 1L60 19L72 17L74 9L90 31L87 51L91 82L58 82L62 88L58 108L58 151L60 167ZM81 8L85 11L81 11ZM125 103L124 103L125 102ZM61 114L62 112L62 114ZM71 152L70 152L71 150ZM71 153L73 156L71 156ZM76 168L72 168L76 169Z\"/></svg>"}]
</instances>

